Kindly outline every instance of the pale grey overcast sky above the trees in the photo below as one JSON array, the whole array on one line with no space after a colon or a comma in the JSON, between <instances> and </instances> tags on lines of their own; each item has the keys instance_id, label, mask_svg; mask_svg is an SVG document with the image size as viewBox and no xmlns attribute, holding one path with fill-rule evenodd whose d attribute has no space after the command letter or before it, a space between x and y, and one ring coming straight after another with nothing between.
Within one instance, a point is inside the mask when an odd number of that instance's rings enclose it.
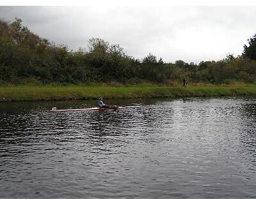
<instances>
[{"instance_id":1,"label":"pale grey overcast sky above the trees","mask_svg":"<svg viewBox=\"0 0 256 204\"><path fill-rule=\"evenodd\" d=\"M68 48L90 38L118 43L141 59L165 62L220 60L240 55L256 33L255 6L0 6L0 18L19 17L31 31Z\"/></svg>"}]
</instances>

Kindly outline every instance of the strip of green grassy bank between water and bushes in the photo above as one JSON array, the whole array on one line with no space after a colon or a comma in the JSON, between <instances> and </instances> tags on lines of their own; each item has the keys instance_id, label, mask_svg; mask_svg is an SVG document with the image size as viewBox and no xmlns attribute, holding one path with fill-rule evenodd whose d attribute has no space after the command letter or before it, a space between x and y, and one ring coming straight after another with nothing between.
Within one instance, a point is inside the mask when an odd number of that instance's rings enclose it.
<instances>
[{"instance_id":1,"label":"strip of green grassy bank between water and bushes","mask_svg":"<svg viewBox=\"0 0 256 204\"><path fill-rule=\"evenodd\" d=\"M248 87L0 87L0 101L61 101L72 99L186 98L256 96L256 85Z\"/></svg>"}]
</instances>

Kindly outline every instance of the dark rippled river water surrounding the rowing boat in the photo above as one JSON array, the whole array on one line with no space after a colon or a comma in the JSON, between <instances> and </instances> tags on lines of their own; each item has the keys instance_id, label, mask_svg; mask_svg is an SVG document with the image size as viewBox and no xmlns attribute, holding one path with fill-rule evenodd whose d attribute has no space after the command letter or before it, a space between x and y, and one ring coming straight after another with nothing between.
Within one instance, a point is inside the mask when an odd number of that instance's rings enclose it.
<instances>
[{"instance_id":1,"label":"dark rippled river water surrounding the rowing boat","mask_svg":"<svg viewBox=\"0 0 256 204\"><path fill-rule=\"evenodd\" d=\"M256 100L0 103L0 198L256 198Z\"/></svg>"}]
</instances>

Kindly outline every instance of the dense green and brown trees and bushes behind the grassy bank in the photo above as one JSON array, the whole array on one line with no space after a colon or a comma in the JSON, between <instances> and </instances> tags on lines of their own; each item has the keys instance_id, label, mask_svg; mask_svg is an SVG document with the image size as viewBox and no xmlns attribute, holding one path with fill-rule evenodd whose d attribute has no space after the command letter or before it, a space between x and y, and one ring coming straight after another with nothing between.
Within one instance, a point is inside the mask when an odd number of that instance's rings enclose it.
<instances>
[{"instance_id":1,"label":"dense green and brown trees and bushes behind the grassy bank","mask_svg":"<svg viewBox=\"0 0 256 204\"><path fill-rule=\"evenodd\" d=\"M120 45L99 38L88 41L88 48L69 51L40 38L22 25L0 20L0 83L91 84L143 82L177 84L186 77L189 83L230 84L256 82L256 36L244 45L241 56L227 55L221 61L190 64L166 63L148 54L143 59L127 55Z\"/></svg>"}]
</instances>

